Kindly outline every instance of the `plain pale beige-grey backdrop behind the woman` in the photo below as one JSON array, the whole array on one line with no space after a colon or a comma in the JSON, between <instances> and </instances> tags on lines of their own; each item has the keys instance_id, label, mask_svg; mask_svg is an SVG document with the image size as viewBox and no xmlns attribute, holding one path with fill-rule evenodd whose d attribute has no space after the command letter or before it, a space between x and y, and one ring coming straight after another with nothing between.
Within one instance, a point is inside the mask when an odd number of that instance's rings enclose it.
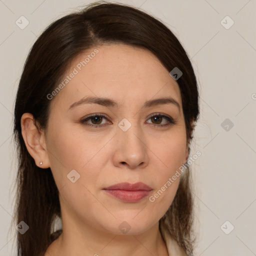
<instances>
[{"instance_id":1,"label":"plain pale beige-grey backdrop behind the woman","mask_svg":"<svg viewBox=\"0 0 256 256\"><path fill-rule=\"evenodd\" d=\"M0 0L0 256L16 255L16 230L10 228L17 171L12 121L25 58L49 23L89 2ZM120 2L167 25L198 79L200 118L190 153L201 152L191 166L195 255L256 255L255 0ZM29 22L23 29L16 24L20 16Z\"/></svg>"}]
</instances>

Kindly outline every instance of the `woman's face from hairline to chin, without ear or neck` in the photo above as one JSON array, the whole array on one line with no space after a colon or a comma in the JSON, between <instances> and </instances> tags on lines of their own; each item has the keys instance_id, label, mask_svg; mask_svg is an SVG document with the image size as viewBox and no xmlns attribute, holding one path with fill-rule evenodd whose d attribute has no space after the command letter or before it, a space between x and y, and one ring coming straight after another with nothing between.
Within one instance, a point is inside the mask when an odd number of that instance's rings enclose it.
<instances>
[{"instance_id":1,"label":"woman's face from hairline to chin, without ear or neck","mask_svg":"<svg viewBox=\"0 0 256 256\"><path fill-rule=\"evenodd\" d=\"M121 233L124 226L136 234L162 217L178 187L180 177L171 178L187 157L180 91L150 51L124 44L96 49L70 64L68 83L51 99L49 167L63 216L80 227ZM150 188L105 189L121 182Z\"/></svg>"}]
</instances>

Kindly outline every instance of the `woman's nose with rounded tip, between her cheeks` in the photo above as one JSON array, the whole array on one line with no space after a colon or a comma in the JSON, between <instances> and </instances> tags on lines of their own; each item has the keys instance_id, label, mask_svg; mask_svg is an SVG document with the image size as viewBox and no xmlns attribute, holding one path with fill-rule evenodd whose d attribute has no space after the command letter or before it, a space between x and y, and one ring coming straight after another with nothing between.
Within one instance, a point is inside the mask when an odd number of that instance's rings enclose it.
<instances>
[{"instance_id":1,"label":"woman's nose with rounded tip, between her cheeks","mask_svg":"<svg viewBox=\"0 0 256 256\"><path fill-rule=\"evenodd\" d=\"M115 166L140 169L148 165L149 148L138 126L131 125L126 131L118 127L114 139L113 163Z\"/></svg>"}]
</instances>

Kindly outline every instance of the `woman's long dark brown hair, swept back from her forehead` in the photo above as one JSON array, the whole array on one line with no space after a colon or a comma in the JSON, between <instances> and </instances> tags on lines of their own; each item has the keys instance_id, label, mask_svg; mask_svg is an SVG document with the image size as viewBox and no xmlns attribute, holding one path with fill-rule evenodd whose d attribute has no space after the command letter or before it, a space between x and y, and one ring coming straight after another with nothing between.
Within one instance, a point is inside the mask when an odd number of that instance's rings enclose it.
<instances>
[{"instance_id":1,"label":"woman's long dark brown hair, swept back from her forehead","mask_svg":"<svg viewBox=\"0 0 256 256\"><path fill-rule=\"evenodd\" d=\"M14 108L14 139L18 158L15 179L14 221L24 221L29 229L17 235L21 256L41 256L61 230L52 233L54 220L61 218L58 189L50 168L41 170L28 153L20 119L29 112L35 125L47 128L51 93L61 81L71 61L84 51L104 43L124 43L151 51L168 70L178 67L177 80L182 100L186 139L192 139L198 118L198 90L190 60L175 35L162 22L138 8L104 1L52 22L34 42L19 80ZM190 151L190 148L189 148ZM189 168L182 173L173 202L160 222L188 255L192 255L193 211Z\"/></svg>"}]
</instances>

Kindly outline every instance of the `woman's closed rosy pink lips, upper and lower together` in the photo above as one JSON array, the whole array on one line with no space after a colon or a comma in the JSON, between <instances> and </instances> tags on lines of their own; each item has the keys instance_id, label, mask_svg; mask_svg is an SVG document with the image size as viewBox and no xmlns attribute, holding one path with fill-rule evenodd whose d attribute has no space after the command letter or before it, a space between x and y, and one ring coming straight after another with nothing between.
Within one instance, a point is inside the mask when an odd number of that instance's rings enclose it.
<instances>
[{"instance_id":1,"label":"woman's closed rosy pink lips, upper and lower together","mask_svg":"<svg viewBox=\"0 0 256 256\"><path fill-rule=\"evenodd\" d=\"M103 189L106 193L125 202L137 202L146 197L152 188L142 182L134 184L128 182L117 183Z\"/></svg>"}]
</instances>

